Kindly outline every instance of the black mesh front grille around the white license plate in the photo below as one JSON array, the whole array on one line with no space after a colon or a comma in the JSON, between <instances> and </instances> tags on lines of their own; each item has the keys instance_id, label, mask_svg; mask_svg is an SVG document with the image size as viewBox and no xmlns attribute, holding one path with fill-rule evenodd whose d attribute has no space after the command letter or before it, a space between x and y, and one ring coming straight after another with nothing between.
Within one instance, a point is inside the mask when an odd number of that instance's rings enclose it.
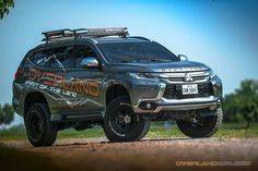
<instances>
[{"instance_id":1,"label":"black mesh front grille around the white license plate","mask_svg":"<svg viewBox=\"0 0 258 171\"><path fill-rule=\"evenodd\" d=\"M168 84L164 93L164 98L166 99L184 99L184 98L195 98L195 97L208 97L213 95L211 83L199 83L198 94L196 95L183 95L181 84Z\"/></svg>"}]
</instances>

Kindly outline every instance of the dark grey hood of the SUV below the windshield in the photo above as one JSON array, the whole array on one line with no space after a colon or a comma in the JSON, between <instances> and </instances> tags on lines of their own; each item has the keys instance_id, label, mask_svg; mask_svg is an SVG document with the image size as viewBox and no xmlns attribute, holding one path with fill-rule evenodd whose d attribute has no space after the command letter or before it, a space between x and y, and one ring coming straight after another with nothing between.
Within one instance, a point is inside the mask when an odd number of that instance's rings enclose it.
<instances>
[{"instance_id":1,"label":"dark grey hood of the SUV below the windshield","mask_svg":"<svg viewBox=\"0 0 258 171\"><path fill-rule=\"evenodd\" d=\"M113 72L137 72L137 73L159 73L159 72L187 72L210 70L203 63L194 61L177 62L150 62L150 63L110 63L108 71Z\"/></svg>"}]
</instances>

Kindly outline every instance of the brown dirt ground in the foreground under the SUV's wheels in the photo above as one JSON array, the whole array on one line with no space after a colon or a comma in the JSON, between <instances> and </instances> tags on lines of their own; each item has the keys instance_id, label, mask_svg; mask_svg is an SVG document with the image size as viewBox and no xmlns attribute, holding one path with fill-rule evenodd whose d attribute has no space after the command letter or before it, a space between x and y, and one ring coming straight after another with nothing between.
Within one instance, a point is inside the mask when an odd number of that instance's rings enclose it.
<instances>
[{"instance_id":1,"label":"brown dirt ground in the foreground under the SUV's wheels","mask_svg":"<svg viewBox=\"0 0 258 171\"><path fill-rule=\"evenodd\" d=\"M258 170L258 139L162 138L108 143L105 138L84 138L61 139L51 147L40 148L32 147L27 141L1 143L46 156L60 170ZM228 166L239 164L238 161L250 161L250 166ZM219 162L227 166L218 166ZM178 166L186 163L194 166Z\"/></svg>"}]
</instances>

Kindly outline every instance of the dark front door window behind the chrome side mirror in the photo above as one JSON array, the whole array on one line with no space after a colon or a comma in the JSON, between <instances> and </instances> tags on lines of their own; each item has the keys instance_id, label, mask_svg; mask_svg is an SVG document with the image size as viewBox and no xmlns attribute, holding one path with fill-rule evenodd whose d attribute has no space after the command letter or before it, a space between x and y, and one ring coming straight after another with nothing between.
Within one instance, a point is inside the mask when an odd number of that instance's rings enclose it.
<instances>
[{"instance_id":1,"label":"dark front door window behind the chrome side mirror","mask_svg":"<svg viewBox=\"0 0 258 171\"><path fill-rule=\"evenodd\" d=\"M93 57L97 58L96 53L89 46L74 46L71 58L74 59L74 68L81 69L81 62L83 59Z\"/></svg>"}]
</instances>

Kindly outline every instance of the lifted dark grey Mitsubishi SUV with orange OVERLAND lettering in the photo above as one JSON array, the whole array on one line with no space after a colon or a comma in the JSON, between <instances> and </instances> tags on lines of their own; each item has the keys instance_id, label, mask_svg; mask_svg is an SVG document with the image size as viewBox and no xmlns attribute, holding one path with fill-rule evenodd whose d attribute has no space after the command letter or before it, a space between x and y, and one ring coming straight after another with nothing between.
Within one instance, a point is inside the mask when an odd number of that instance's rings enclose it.
<instances>
[{"instance_id":1,"label":"lifted dark grey Mitsubishi SUV with orange OVERLAND lettering","mask_svg":"<svg viewBox=\"0 0 258 171\"><path fill-rule=\"evenodd\" d=\"M34 146L68 127L104 127L110 142L141 139L151 121L176 121L190 137L222 123L222 82L199 62L175 56L127 28L43 33L13 82L13 107Z\"/></svg>"}]
</instances>

